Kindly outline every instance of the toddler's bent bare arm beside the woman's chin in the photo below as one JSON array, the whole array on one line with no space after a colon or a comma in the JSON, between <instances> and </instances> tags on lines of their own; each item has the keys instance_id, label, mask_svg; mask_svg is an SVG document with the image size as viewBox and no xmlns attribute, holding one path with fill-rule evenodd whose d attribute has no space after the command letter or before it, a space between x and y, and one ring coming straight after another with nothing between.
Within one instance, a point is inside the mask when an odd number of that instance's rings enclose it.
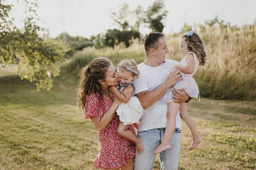
<instances>
[{"instance_id":1,"label":"toddler's bent bare arm beside the woman's chin","mask_svg":"<svg viewBox=\"0 0 256 170\"><path fill-rule=\"evenodd\" d=\"M126 104L131 99L132 93L134 93L134 86L131 85L125 87L125 90L123 90L122 93L120 93L120 91L115 86L112 86L110 90L116 95L116 97L118 97L120 101L122 101L122 103Z\"/></svg>"}]
</instances>

